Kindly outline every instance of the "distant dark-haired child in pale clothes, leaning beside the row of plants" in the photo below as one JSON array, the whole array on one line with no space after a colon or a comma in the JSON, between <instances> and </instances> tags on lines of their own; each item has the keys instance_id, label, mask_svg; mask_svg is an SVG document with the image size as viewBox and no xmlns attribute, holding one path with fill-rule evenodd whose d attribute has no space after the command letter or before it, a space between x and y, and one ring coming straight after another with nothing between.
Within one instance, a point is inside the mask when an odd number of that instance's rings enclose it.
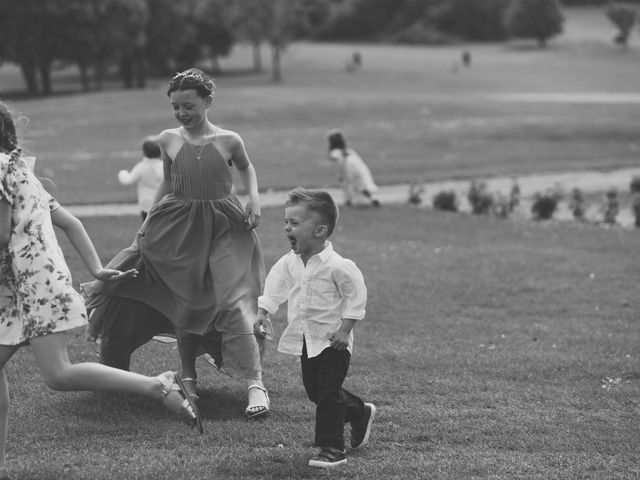
<instances>
[{"instance_id":1,"label":"distant dark-haired child in pale clothes, leaning beside the row of plants","mask_svg":"<svg viewBox=\"0 0 640 480\"><path fill-rule=\"evenodd\" d=\"M380 201L375 196L378 186L360 155L347 147L344 135L338 130L331 130L327 134L327 140L329 141L329 159L337 162L340 167L340 184L346 205L368 204L379 207Z\"/></svg>"}]
</instances>

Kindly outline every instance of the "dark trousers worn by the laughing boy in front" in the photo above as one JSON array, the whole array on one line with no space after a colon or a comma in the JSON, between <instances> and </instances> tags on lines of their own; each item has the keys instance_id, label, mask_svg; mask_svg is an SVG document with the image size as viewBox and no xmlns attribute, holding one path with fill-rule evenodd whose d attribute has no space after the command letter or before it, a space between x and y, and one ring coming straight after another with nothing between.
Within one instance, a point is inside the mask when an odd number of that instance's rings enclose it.
<instances>
[{"instance_id":1,"label":"dark trousers worn by the laughing boy in front","mask_svg":"<svg viewBox=\"0 0 640 480\"><path fill-rule=\"evenodd\" d=\"M302 383L309 400L317 405L316 446L344 450L344 424L360 420L365 414L364 402L342 388L351 354L348 350L325 348L320 355L308 358L303 341L300 360Z\"/></svg>"}]
</instances>

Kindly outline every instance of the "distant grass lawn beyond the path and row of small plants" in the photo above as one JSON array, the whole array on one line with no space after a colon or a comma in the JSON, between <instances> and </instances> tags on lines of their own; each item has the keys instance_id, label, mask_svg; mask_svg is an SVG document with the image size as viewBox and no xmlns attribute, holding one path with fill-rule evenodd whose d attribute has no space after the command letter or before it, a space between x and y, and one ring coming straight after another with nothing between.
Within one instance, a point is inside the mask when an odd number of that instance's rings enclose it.
<instances>
[{"instance_id":1,"label":"distant grass lawn beyond the path and row of small plants","mask_svg":"<svg viewBox=\"0 0 640 480\"><path fill-rule=\"evenodd\" d=\"M335 127L381 184L635 165L640 109L616 95L640 94L639 47L633 39L627 52L612 45L599 10L572 10L568 18L567 33L546 50L294 44L281 85L268 73L239 74L251 65L239 47L222 59L211 118L243 136L262 190L336 184L324 138ZM463 48L472 67L454 73ZM344 63L354 49L364 64L349 74ZM116 172L139 159L144 136L175 126L166 83L78 94L76 73L63 70L54 84L66 94L15 101L31 119L27 150L62 202L134 200ZM15 69L0 70L0 92L20 84ZM558 101L558 94L568 96ZM614 96L593 103L603 94Z\"/></svg>"}]
</instances>

